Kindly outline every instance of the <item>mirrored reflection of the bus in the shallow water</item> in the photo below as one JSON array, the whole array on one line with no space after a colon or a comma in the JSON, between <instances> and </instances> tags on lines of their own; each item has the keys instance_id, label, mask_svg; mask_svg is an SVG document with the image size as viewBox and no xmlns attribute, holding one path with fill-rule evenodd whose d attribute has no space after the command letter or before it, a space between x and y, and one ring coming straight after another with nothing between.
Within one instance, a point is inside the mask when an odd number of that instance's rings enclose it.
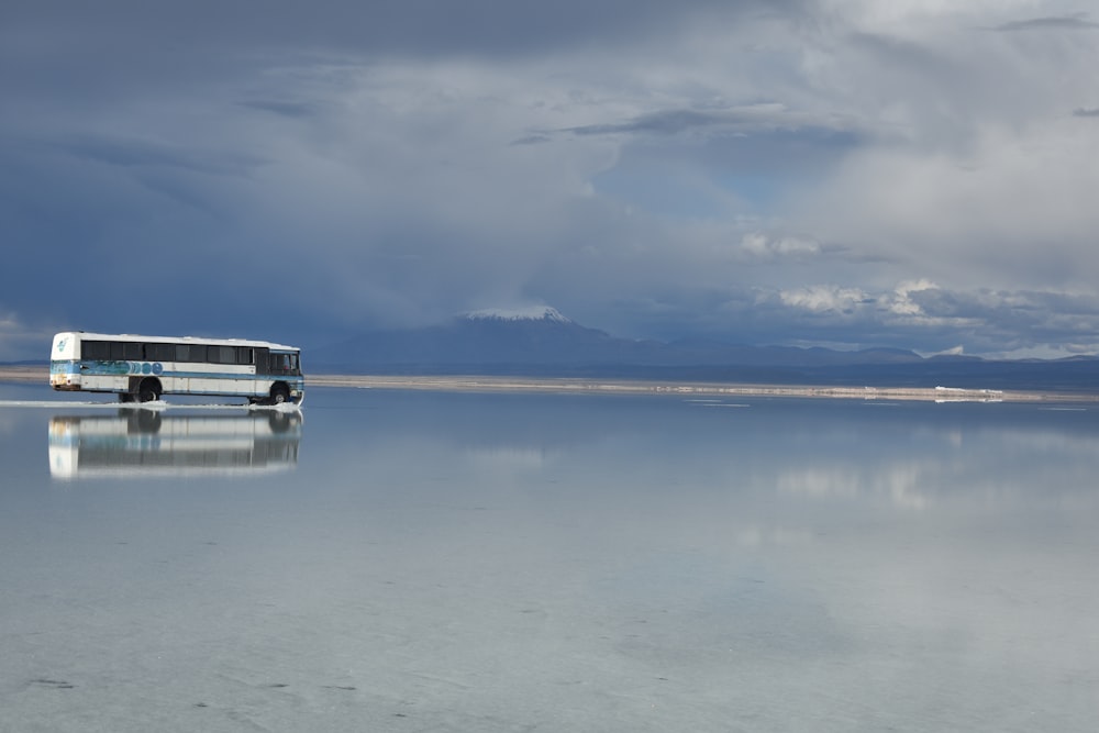
<instances>
[{"instance_id":1,"label":"mirrored reflection of the bus in the shallow water","mask_svg":"<svg viewBox=\"0 0 1099 733\"><path fill-rule=\"evenodd\" d=\"M267 474L293 469L301 414L59 415L49 421L54 478L145 478Z\"/></svg>"}]
</instances>

